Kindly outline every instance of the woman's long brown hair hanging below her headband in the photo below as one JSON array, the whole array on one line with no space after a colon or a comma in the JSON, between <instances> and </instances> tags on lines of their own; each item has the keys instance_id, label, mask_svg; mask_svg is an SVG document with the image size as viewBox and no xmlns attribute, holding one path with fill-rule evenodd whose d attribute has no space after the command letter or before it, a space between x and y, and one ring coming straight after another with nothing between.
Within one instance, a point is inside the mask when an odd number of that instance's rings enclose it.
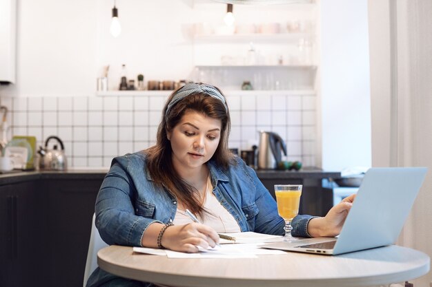
<instances>
[{"instance_id":1,"label":"woman's long brown hair hanging below her headband","mask_svg":"<svg viewBox=\"0 0 432 287\"><path fill-rule=\"evenodd\" d=\"M215 88L217 89L217 87ZM220 92L219 89L217 90ZM168 189L190 211L201 216L204 209L199 202L197 189L183 180L173 167L173 151L167 134L180 122L186 111L197 111L210 118L221 120L222 127L219 145L210 160L214 160L222 169L227 169L228 165L233 162L233 153L228 149L230 114L228 107L221 100L209 96L205 92L197 92L186 96L179 100L178 103L175 103L170 108L170 111L168 111L168 114L166 114L168 104L177 91L173 92L166 101L161 123L157 129L156 145L144 151L147 156L147 168L156 184Z\"/></svg>"}]
</instances>

